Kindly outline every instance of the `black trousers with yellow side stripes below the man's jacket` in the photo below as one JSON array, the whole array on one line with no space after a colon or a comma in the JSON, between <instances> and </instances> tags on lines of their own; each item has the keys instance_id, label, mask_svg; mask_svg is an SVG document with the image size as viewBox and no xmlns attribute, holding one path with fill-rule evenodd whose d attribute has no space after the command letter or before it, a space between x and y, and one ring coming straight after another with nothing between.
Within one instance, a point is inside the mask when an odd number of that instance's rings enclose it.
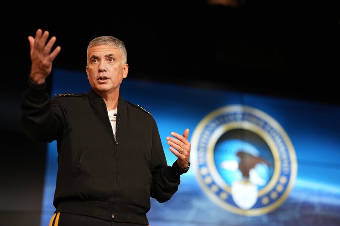
<instances>
[{"instance_id":1,"label":"black trousers with yellow side stripes below the man's jacket","mask_svg":"<svg viewBox=\"0 0 340 226\"><path fill-rule=\"evenodd\" d=\"M72 214L72 213L55 213L53 214L49 226L149 226L133 223L120 223L106 221L94 217Z\"/></svg>"}]
</instances>

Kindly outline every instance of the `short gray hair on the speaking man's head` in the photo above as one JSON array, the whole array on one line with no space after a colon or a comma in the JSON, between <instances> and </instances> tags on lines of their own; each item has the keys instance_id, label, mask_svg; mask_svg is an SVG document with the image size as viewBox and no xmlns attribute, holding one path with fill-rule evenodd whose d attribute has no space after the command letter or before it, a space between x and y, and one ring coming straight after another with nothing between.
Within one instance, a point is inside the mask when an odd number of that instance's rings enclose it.
<instances>
[{"instance_id":1,"label":"short gray hair on the speaking man's head","mask_svg":"<svg viewBox=\"0 0 340 226\"><path fill-rule=\"evenodd\" d=\"M92 41L90 41L89 45L87 46L87 52L86 55L87 57L89 57L89 50L94 47L94 46L98 46L98 45L109 45L112 46L114 49L118 49L119 52L122 54L122 64L124 66L124 64L126 64L127 62L127 58L128 58L128 53L126 51L125 48L125 44L122 40L113 37L113 36L99 36L96 37L94 39L92 39Z\"/></svg>"}]
</instances>

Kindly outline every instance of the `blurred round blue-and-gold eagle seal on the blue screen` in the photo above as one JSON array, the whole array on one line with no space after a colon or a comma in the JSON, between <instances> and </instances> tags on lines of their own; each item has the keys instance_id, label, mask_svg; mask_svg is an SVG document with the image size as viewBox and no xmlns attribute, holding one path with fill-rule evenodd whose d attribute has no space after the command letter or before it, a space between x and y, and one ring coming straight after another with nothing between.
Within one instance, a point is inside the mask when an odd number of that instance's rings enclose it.
<instances>
[{"instance_id":1,"label":"blurred round blue-and-gold eagle seal on the blue screen","mask_svg":"<svg viewBox=\"0 0 340 226\"><path fill-rule=\"evenodd\" d=\"M196 126L191 145L201 189L233 213L273 211L294 185L294 147L283 127L259 109L235 104L210 112Z\"/></svg>"}]
</instances>

